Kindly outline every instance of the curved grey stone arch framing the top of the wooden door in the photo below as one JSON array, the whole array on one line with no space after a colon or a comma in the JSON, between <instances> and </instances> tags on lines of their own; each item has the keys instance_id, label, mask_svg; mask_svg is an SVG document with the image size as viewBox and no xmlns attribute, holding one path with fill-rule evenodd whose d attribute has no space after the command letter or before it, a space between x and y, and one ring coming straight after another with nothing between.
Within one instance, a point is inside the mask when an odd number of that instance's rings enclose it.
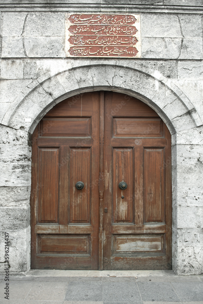
<instances>
[{"instance_id":1,"label":"curved grey stone arch framing the top of the wooden door","mask_svg":"<svg viewBox=\"0 0 203 304\"><path fill-rule=\"evenodd\" d=\"M187 96L170 79L138 64L135 67L112 64L71 66L57 74L48 72L33 80L7 110L2 124L32 133L40 119L58 102L73 95L112 90L134 96L154 109L171 134L202 125ZM25 122L25 119L31 122Z\"/></svg>"}]
</instances>

